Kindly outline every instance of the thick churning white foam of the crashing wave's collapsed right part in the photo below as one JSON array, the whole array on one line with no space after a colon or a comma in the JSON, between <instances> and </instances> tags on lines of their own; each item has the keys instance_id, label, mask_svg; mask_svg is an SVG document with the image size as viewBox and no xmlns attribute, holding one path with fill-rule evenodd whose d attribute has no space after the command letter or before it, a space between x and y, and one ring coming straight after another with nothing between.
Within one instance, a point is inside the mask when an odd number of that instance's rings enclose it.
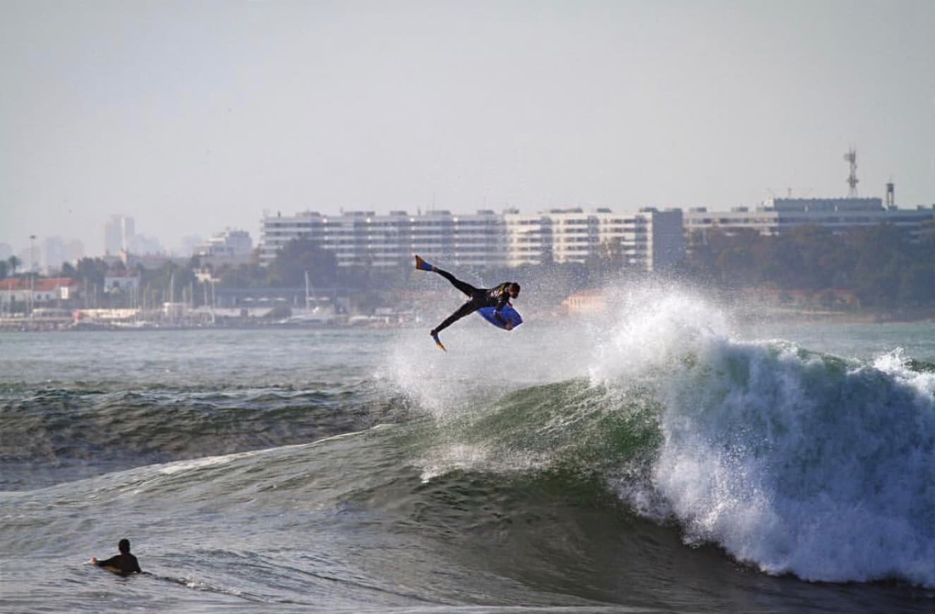
<instances>
[{"instance_id":1,"label":"thick churning white foam of the crashing wave's collapsed right part","mask_svg":"<svg viewBox=\"0 0 935 614\"><path fill-rule=\"evenodd\" d=\"M678 294L622 314L592 374L652 374L665 407L651 492L622 493L770 573L935 586L935 377L723 324Z\"/></svg>"}]
</instances>

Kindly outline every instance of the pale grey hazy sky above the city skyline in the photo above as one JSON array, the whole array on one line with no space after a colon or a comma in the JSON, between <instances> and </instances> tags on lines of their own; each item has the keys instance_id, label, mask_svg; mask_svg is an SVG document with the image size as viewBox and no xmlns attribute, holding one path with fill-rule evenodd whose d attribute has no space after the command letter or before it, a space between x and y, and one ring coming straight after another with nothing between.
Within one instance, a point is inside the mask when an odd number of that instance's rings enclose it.
<instances>
[{"instance_id":1,"label":"pale grey hazy sky above the city skyline","mask_svg":"<svg viewBox=\"0 0 935 614\"><path fill-rule=\"evenodd\" d=\"M0 0L0 243L111 214L935 203L935 1Z\"/></svg>"}]
</instances>

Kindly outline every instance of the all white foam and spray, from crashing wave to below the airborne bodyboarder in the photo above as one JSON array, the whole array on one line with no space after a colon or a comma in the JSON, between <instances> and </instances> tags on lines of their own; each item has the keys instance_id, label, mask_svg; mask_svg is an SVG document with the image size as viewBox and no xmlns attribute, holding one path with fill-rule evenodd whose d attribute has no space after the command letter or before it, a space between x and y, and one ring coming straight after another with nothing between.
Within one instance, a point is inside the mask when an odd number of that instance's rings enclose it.
<instances>
[{"instance_id":1,"label":"all white foam and spray, from crashing wave to below the airborne bodyboarder","mask_svg":"<svg viewBox=\"0 0 935 614\"><path fill-rule=\"evenodd\" d=\"M500 332L468 322L448 354L413 340L387 373L441 422L509 390L513 373L522 385L585 376L622 395L640 385L661 404L662 443L644 479L620 488L639 513L773 574L935 586L935 374L897 349L866 363L741 341L726 310L659 284L609 299L595 325L513 333L502 360L484 360L498 355L484 334ZM549 462L509 451L455 436L420 466L430 479Z\"/></svg>"}]
</instances>

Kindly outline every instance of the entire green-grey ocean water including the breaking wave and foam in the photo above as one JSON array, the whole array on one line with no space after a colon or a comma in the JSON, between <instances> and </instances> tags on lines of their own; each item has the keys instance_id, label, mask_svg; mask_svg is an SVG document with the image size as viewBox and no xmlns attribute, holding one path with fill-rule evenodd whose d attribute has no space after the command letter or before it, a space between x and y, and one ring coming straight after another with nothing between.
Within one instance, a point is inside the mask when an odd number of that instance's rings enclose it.
<instances>
[{"instance_id":1,"label":"entire green-grey ocean water including the breaking wave and foam","mask_svg":"<svg viewBox=\"0 0 935 614\"><path fill-rule=\"evenodd\" d=\"M611 303L0 336L0 611L935 611L935 323Z\"/></svg>"}]
</instances>

